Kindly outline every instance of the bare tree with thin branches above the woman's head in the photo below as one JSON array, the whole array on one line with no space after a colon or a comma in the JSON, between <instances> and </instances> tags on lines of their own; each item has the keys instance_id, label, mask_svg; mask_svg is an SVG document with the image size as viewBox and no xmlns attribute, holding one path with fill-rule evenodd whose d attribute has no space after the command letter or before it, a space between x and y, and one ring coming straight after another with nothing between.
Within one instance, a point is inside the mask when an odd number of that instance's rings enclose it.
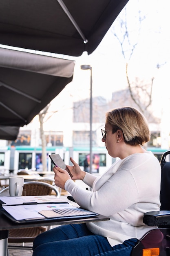
<instances>
[{"instance_id":1,"label":"bare tree with thin branches above the woman's head","mask_svg":"<svg viewBox=\"0 0 170 256\"><path fill-rule=\"evenodd\" d=\"M141 11L138 11L137 20L134 22L136 26L136 33L134 37L134 31L130 31L128 28L126 8L124 9L124 13L122 15L123 17L121 16L118 18L118 30L116 31L116 28L113 27L112 31L114 36L119 41L121 53L126 61L126 79L130 97L137 105L139 110L146 115L147 109L152 103L152 86L154 77L152 77L148 82L144 80L141 81L139 78L135 78L135 81L130 81L128 74L128 63L135 51L135 48L137 47L137 38L140 34L141 22L145 19L145 16L142 17Z\"/></svg>"}]
</instances>

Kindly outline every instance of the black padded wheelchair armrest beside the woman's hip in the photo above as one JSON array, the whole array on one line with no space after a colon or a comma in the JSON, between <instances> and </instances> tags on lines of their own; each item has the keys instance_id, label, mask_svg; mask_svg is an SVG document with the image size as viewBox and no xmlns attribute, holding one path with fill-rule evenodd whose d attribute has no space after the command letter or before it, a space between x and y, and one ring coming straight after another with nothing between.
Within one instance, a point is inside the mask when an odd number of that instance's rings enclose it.
<instances>
[{"instance_id":1,"label":"black padded wheelchair armrest beside the woman's hip","mask_svg":"<svg viewBox=\"0 0 170 256\"><path fill-rule=\"evenodd\" d=\"M143 222L148 226L170 225L170 211L149 211L144 214Z\"/></svg>"}]
</instances>

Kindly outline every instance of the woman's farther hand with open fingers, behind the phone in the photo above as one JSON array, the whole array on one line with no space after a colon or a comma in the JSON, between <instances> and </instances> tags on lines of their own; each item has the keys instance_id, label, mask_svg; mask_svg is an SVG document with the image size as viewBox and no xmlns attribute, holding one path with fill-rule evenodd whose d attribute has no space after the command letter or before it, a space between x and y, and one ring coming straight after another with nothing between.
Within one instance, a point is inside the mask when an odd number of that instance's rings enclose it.
<instances>
[{"instance_id":1,"label":"woman's farther hand with open fingers, behind the phone","mask_svg":"<svg viewBox=\"0 0 170 256\"><path fill-rule=\"evenodd\" d=\"M67 165L66 168L70 171L70 173L73 175L71 177L72 180L83 180L86 172L82 171L79 167L79 165L73 160L72 157L70 157L70 161L72 162L73 166Z\"/></svg>"}]
</instances>

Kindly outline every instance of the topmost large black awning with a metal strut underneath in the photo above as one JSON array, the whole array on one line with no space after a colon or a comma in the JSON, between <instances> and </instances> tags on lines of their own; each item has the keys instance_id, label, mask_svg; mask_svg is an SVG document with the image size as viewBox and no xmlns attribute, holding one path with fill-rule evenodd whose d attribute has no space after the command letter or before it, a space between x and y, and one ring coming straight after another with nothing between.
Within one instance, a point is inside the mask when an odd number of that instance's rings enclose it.
<instances>
[{"instance_id":1,"label":"topmost large black awning with a metal strut underneath","mask_svg":"<svg viewBox=\"0 0 170 256\"><path fill-rule=\"evenodd\" d=\"M0 0L0 44L70 56L91 54L127 2Z\"/></svg>"}]
</instances>

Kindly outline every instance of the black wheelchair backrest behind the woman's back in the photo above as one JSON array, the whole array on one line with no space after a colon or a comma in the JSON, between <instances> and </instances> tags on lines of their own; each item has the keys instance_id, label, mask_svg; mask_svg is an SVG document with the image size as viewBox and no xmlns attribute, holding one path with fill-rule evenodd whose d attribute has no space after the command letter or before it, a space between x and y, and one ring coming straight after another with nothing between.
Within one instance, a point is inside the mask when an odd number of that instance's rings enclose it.
<instances>
[{"instance_id":1,"label":"black wheelchair backrest behind the woman's back","mask_svg":"<svg viewBox=\"0 0 170 256\"><path fill-rule=\"evenodd\" d=\"M166 161L166 157L170 154L170 150L163 153L161 157L161 192L160 210L170 211L170 162ZM167 157L168 158L168 157Z\"/></svg>"}]
</instances>

